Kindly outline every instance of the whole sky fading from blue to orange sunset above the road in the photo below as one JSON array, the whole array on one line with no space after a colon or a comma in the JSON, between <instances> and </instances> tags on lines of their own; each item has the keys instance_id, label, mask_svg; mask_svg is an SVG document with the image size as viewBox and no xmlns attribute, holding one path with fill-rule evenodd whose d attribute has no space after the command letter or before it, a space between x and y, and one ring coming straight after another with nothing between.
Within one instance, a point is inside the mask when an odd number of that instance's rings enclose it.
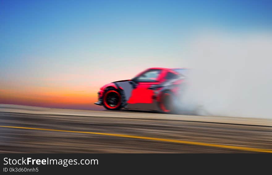
<instances>
[{"instance_id":1,"label":"whole sky fading from blue to orange sunset above the road","mask_svg":"<svg viewBox=\"0 0 272 175\"><path fill-rule=\"evenodd\" d=\"M0 103L103 109L99 88L148 67L187 67L206 28L271 30L272 1L0 0Z\"/></svg>"}]
</instances>

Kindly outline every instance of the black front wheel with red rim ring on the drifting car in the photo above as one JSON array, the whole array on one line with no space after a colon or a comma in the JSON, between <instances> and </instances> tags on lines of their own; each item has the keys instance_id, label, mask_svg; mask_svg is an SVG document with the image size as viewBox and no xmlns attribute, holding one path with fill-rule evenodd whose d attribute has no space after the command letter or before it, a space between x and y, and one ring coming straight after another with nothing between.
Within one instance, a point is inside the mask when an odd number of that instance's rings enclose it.
<instances>
[{"instance_id":1,"label":"black front wheel with red rim ring on the drifting car","mask_svg":"<svg viewBox=\"0 0 272 175\"><path fill-rule=\"evenodd\" d=\"M108 88L104 92L103 105L108 110L119 110L121 108L121 94L115 88Z\"/></svg>"}]
</instances>

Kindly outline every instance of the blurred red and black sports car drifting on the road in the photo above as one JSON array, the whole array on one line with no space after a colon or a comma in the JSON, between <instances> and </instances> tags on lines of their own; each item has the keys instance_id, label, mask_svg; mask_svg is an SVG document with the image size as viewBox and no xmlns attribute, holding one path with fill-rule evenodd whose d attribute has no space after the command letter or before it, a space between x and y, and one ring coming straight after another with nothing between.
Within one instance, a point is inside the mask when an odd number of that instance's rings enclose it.
<instances>
[{"instance_id":1,"label":"blurred red and black sports car drifting on the road","mask_svg":"<svg viewBox=\"0 0 272 175\"><path fill-rule=\"evenodd\" d=\"M125 108L172 113L180 103L186 72L184 68L149 68L133 79L104 85L95 104L108 110Z\"/></svg>"}]
</instances>

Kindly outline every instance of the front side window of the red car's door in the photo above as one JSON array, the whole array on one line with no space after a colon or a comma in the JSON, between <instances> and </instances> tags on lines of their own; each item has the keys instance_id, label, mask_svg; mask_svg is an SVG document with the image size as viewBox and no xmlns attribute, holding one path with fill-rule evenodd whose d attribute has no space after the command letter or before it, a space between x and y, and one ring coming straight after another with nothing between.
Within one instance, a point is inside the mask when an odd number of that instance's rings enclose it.
<instances>
[{"instance_id":1,"label":"front side window of the red car's door","mask_svg":"<svg viewBox=\"0 0 272 175\"><path fill-rule=\"evenodd\" d=\"M160 72L160 69L147 70L138 77L135 77L133 80L136 82L156 82Z\"/></svg>"}]
</instances>

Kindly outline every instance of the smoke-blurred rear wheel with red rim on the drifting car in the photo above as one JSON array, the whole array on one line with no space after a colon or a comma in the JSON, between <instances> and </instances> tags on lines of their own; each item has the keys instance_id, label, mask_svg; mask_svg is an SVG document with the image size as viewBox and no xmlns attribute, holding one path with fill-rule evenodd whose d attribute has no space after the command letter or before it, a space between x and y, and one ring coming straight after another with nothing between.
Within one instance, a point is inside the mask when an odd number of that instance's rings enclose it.
<instances>
[{"instance_id":1,"label":"smoke-blurred rear wheel with red rim on the drifting car","mask_svg":"<svg viewBox=\"0 0 272 175\"><path fill-rule=\"evenodd\" d=\"M173 113L174 112L174 103L173 103L173 95L169 91L165 91L161 93L159 99L159 108L165 113Z\"/></svg>"}]
</instances>

